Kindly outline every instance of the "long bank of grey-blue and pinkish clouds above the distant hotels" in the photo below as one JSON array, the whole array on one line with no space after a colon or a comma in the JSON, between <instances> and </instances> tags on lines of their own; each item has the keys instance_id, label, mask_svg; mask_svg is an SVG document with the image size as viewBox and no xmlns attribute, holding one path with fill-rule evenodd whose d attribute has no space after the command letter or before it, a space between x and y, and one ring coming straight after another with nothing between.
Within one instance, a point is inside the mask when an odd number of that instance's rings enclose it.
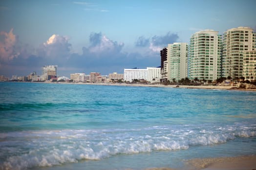
<instances>
[{"instance_id":1,"label":"long bank of grey-blue and pinkish clouds above the distant hotels","mask_svg":"<svg viewBox=\"0 0 256 170\"><path fill-rule=\"evenodd\" d=\"M0 35L0 75L9 77L28 75L32 71L41 74L44 65L58 65L58 74L68 77L75 72L97 71L105 75L123 73L124 68L158 67L161 48L178 39L177 34L171 33L140 36L134 47L141 50L127 52L124 51L125 43L112 40L101 32L91 33L89 43L82 48L83 53L78 54L72 50L70 38L64 35L52 34L32 50L18 43L13 29L9 33L0 32Z\"/></svg>"}]
</instances>

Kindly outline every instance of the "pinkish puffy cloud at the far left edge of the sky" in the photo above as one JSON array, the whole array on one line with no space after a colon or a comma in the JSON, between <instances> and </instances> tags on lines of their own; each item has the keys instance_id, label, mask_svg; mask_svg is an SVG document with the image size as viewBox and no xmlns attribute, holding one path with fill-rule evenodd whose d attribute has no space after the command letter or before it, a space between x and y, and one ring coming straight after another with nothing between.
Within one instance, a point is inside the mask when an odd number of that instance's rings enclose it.
<instances>
[{"instance_id":1,"label":"pinkish puffy cloud at the far left edge of the sky","mask_svg":"<svg viewBox=\"0 0 256 170\"><path fill-rule=\"evenodd\" d=\"M9 33L1 31L0 35L3 37L0 41L0 59L8 61L20 55L20 52L15 48L17 37L13 34L13 29Z\"/></svg>"}]
</instances>

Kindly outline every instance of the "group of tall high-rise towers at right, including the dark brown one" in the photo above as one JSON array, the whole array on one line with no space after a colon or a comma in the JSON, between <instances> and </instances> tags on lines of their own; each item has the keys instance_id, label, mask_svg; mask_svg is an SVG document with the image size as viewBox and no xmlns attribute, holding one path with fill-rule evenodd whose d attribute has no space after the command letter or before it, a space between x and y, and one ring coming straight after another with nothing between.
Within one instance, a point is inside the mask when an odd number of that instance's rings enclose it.
<instances>
[{"instance_id":1,"label":"group of tall high-rise towers at right, including the dark brown one","mask_svg":"<svg viewBox=\"0 0 256 170\"><path fill-rule=\"evenodd\" d=\"M256 33L249 27L191 35L190 44L168 44L160 52L161 82L188 77L214 81L220 77L256 80Z\"/></svg>"}]
</instances>

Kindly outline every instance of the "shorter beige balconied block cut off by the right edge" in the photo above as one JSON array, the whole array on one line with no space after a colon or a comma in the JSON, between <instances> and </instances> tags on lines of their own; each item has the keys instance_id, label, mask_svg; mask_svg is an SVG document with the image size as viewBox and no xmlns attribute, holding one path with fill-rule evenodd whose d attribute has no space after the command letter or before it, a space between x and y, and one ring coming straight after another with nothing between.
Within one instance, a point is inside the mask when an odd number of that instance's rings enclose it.
<instances>
[{"instance_id":1,"label":"shorter beige balconied block cut off by the right edge","mask_svg":"<svg viewBox=\"0 0 256 170\"><path fill-rule=\"evenodd\" d=\"M243 77L245 80L256 80L256 50L244 51L243 54Z\"/></svg>"}]
</instances>

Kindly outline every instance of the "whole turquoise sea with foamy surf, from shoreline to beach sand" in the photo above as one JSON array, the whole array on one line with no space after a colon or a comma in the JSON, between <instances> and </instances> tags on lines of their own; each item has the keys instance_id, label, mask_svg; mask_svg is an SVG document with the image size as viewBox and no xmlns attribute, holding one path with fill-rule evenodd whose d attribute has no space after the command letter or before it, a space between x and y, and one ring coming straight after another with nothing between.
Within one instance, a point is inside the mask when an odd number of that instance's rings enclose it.
<instances>
[{"instance_id":1,"label":"whole turquoise sea with foamy surf, from shoreline to beach sand","mask_svg":"<svg viewBox=\"0 0 256 170\"><path fill-rule=\"evenodd\" d=\"M255 154L255 91L0 82L0 170L185 169Z\"/></svg>"}]
</instances>

